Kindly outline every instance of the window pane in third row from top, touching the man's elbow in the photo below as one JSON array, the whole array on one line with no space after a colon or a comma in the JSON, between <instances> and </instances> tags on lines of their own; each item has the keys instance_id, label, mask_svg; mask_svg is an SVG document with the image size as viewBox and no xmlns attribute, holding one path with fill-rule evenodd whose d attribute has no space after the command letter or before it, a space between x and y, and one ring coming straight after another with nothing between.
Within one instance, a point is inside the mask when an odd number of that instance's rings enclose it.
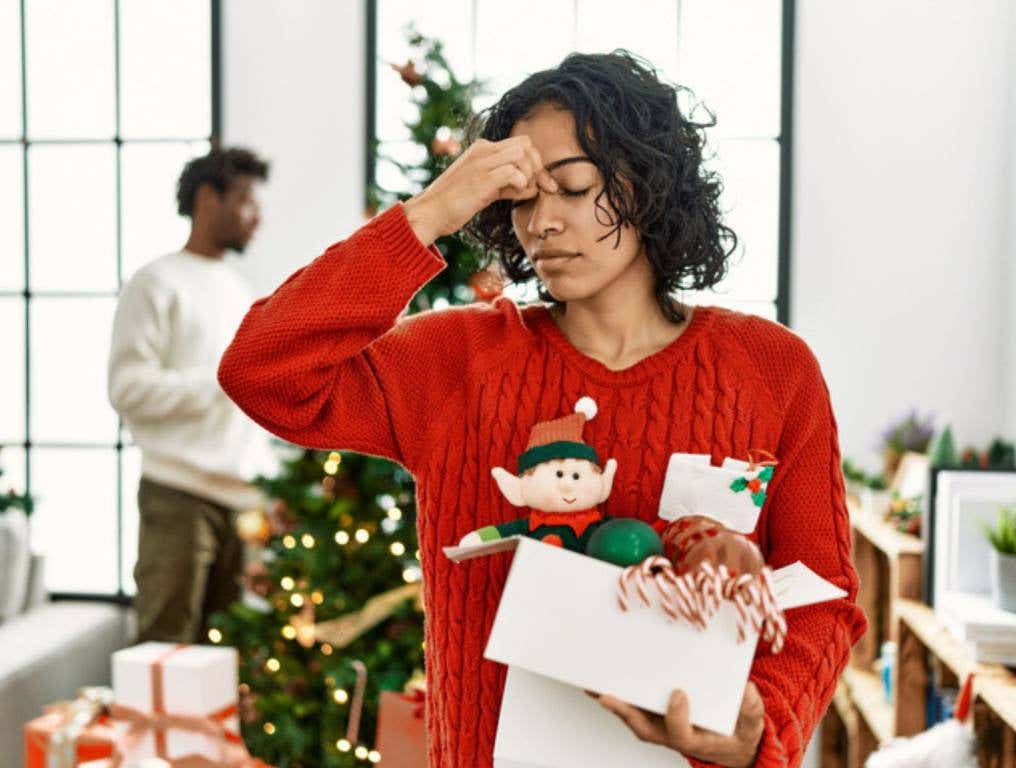
<instances>
[{"instance_id":1,"label":"window pane in third row from top, touching the man's elbow","mask_svg":"<svg viewBox=\"0 0 1016 768\"><path fill-rule=\"evenodd\" d=\"M117 417L106 395L114 299L33 299L31 439L108 443Z\"/></svg>"}]
</instances>

